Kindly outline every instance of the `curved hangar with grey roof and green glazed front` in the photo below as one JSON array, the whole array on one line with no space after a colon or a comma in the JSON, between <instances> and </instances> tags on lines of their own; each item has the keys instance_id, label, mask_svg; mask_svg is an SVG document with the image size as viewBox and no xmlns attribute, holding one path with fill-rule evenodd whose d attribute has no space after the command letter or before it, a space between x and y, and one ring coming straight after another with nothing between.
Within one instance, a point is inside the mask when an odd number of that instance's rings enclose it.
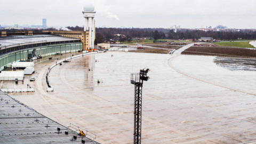
<instances>
[{"instance_id":1,"label":"curved hangar with grey roof and green glazed front","mask_svg":"<svg viewBox=\"0 0 256 144\"><path fill-rule=\"evenodd\" d=\"M12 62L28 60L29 54L45 57L56 53L81 51L79 38L55 35L10 36L0 38L0 70Z\"/></svg>"}]
</instances>

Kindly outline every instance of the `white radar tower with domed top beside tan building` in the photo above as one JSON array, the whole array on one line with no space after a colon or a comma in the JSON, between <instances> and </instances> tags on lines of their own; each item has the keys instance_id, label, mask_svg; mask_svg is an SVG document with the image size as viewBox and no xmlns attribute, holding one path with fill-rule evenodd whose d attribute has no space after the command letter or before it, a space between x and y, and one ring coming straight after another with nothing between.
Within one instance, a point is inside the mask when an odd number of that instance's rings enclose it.
<instances>
[{"instance_id":1,"label":"white radar tower with domed top beside tan building","mask_svg":"<svg viewBox=\"0 0 256 144\"><path fill-rule=\"evenodd\" d=\"M84 24L84 31L89 31L89 44L90 44L90 49L94 49L94 39L95 39L95 13L94 12L94 6L93 4L86 4L84 5L84 11L83 11L83 17L85 19L85 24ZM86 40L87 40L87 35L86 35Z\"/></svg>"}]
</instances>

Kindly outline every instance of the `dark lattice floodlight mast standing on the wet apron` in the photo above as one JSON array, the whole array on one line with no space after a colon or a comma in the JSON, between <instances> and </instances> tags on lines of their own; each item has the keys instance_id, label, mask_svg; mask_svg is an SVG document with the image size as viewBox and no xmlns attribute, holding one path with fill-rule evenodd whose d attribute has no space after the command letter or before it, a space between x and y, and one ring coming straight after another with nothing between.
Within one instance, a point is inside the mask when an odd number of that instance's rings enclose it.
<instances>
[{"instance_id":1,"label":"dark lattice floodlight mast standing on the wet apron","mask_svg":"<svg viewBox=\"0 0 256 144\"><path fill-rule=\"evenodd\" d=\"M141 143L141 106L142 106L142 85L148 81L149 69L140 69L140 73L131 74L131 84L134 84L134 132L133 143Z\"/></svg>"}]
</instances>

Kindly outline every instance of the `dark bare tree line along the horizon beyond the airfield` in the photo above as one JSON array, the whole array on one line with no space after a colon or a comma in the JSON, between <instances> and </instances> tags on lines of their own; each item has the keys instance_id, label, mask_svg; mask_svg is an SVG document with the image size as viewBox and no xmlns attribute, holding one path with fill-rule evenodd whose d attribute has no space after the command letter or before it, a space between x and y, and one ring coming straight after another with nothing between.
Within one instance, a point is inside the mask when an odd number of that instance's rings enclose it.
<instances>
[{"instance_id":1,"label":"dark bare tree line along the horizon beyond the airfield","mask_svg":"<svg viewBox=\"0 0 256 144\"><path fill-rule=\"evenodd\" d=\"M82 27L68 27L70 30L81 30ZM201 37L212 37L218 40L231 39L256 39L256 31L245 29L240 31L203 31L180 29L175 33L173 30L164 28L96 28L96 39L98 42L109 41L117 38L115 34L125 37L118 37L123 41L131 38L152 37L154 39L199 39Z\"/></svg>"}]
</instances>

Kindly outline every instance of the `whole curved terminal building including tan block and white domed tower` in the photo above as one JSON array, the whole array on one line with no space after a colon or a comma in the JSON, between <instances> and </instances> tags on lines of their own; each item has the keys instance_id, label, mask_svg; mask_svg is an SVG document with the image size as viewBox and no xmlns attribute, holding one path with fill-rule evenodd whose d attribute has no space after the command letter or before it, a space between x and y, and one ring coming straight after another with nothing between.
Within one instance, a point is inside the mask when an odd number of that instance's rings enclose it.
<instances>
[{"instance_id":1,"label":"whole curved terminal building including tan block and white domed tower","mask_svg":"<svg viewBox=\"0 0 256 144\"><path fill-rule=\"evenodd\" d=\"M82 13L85 19L84 31L19 30L15 33L0 31L0 71L9 63L29 60L30 55L33 55L35 51L37 56L45 57L56 53L94 49L94 6L85 5Z\"/></svg>"}]
</instances>

